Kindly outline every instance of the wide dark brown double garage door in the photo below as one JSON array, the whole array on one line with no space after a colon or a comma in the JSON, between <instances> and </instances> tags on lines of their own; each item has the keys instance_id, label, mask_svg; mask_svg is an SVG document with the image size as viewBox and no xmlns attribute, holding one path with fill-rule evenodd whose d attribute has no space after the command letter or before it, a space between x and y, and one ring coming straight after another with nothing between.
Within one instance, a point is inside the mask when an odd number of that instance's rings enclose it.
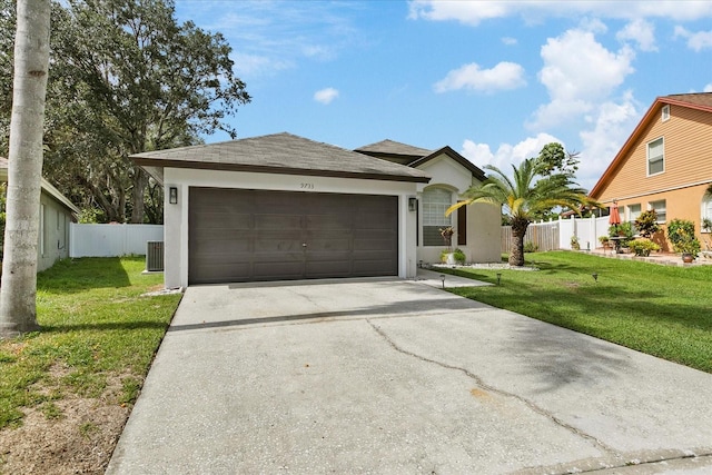
<instances>
[{"instance_id":1,"label":"wide dark brown double garage door","mask_svg":"<svg viewBox=\"0 0 712 475\"><path fill-rule=\"evenodd\" d=\"M188 280L398 274L395 196L190 188Z\"/></svg>"}]
</instances>

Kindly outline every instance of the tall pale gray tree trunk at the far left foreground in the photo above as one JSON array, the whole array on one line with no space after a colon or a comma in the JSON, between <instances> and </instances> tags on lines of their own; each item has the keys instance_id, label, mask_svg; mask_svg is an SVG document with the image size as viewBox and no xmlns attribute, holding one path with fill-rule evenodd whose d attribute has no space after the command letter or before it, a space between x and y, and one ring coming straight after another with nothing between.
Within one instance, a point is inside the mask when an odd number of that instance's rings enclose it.
<instances>
[{"instance_id":1,"label":"tall pale gray tree trunk at the far left foreground","mask_svg":"<svg viewBox=\"0 0 712 475\"><path fill-rule=\"evenodd\" d=\"M39 329L37 256L50 0L18 0L0 338Z\"/></svg>"}]
</instances>

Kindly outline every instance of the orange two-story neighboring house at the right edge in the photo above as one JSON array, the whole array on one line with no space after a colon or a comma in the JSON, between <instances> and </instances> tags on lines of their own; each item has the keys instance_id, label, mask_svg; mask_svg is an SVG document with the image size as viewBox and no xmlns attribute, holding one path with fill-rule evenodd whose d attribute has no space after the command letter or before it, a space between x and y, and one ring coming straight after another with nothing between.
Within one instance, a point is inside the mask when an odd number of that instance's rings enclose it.
<instances>
[{"instance_id":1,"label":"orange two-story neighboring house at the right edge","mask_svg":"<svg viewBox=\"0 0 712 475\"><path fill-rule=\"evenodd\" d=\"M621 219L634 221L646 209L659 222L689 219L695 224L702 249L710 246L712 219L712 92L663 96L655 99L615 156L590 197L611 206L617 201ZM666 234L654 240L671 250Z\"/></svg>"}]
</instances>

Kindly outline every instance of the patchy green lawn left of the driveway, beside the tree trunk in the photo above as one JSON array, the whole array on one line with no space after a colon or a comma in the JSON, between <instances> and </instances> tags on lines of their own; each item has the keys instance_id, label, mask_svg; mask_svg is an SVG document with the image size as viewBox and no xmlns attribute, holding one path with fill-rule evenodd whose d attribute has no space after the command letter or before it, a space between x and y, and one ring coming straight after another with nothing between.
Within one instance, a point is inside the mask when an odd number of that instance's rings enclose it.
<instances>
[{"instance_id":1,"label":"patchy green lawn left of the driveway, beside the tree trunk","mask_svg":"<svg viewBox=\"0 0 712 475\"><path fill-rule=\"evenodd\" d=\"M41 331L0 342L0 428L23 409L60 418L58 400L132 404L180 300L141 297L162 276L141 275L144 258L62 260L38 275Z\"/></svg>"}]
</instances>

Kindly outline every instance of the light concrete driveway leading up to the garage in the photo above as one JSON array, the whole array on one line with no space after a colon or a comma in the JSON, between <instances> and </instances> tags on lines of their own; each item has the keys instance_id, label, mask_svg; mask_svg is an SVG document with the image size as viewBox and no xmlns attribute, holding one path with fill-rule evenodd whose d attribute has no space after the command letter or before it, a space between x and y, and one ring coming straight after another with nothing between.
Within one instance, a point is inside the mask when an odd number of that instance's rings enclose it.
<instances>
[{"instance_id":1,"label":"light concrete driveway leading up to the garage","mask_svg":"<svg viewBox=\"0 0 712 475\"><path fill-rule=\"evenodd\" d=\"M107 473L712 473L712 375L429 277L188 288Z\"/></svg>"}]
</instances>

